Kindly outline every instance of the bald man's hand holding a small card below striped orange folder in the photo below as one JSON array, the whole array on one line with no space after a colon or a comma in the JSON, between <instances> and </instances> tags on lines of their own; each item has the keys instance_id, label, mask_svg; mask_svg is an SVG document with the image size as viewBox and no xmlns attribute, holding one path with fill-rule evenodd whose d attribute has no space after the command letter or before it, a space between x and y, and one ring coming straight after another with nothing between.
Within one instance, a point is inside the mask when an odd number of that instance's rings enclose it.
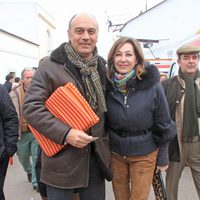
<instances>
[{"instance_id":1,"label":"bald man's hand holding a small card below striped orange folder","mask_svg":"<svg viewBox=\"0 0 200 200\"><path fill-rule=\"evenodd\" d=\"M83 148L93 141L93 137L77 129L71 129L67 135L67 143L77 148Z\"/></svg>"}]
</instances>

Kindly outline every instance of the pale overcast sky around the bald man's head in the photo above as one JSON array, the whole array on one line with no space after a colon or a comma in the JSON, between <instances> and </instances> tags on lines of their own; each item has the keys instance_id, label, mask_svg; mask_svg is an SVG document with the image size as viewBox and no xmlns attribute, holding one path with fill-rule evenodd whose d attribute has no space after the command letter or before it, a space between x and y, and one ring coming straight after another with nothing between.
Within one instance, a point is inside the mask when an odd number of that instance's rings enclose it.
<instances>
[{"instance_id":1,"label":"pale overcast sky around the bald man's head","mask_svg":"<svg viewBox=\"0 0 200 200\"><path fill-rule=\"evenodd\" d=\"M151 8L163 0L38 0L45 10L49 11L56 20L56 40L57 46L63 41L67 41L67 27L70 18L80 12L93 14L100 27L98 49L99 53L106 57L109 48L115 40L116 33L108 32L108 19L113 24L120 24L137 16L141 11Z\"/></svg>"}]
</instances>

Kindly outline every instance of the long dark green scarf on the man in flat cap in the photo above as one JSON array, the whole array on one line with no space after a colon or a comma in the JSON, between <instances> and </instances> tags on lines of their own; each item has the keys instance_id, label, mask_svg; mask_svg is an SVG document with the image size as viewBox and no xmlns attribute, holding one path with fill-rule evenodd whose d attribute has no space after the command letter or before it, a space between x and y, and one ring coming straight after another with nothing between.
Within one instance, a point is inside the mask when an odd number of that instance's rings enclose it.
<instances>
[{"instance_id":1,"label":"long dark green scarf on the man in flat cap","mask_svg":"<svg viewBox=\"0 0 200 200\"><path fill-rule=\"evenodd\" d=\"M195 80L200 77L200 72L197 70L194 76L188 76L179 69L179 76L185 81L182 141L199 141L200 91Z\"/></svg>"}]
</instances>

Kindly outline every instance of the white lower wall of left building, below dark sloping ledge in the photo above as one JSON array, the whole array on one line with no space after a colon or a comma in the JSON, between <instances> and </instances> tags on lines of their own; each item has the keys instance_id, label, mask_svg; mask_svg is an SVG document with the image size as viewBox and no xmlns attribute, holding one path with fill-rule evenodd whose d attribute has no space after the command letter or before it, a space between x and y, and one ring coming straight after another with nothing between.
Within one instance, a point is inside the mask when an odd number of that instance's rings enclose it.
<instances>
[{"instance_id":1,"label":"white lower wall of left building, below dark sloping ledge","mask_svg":"<svg viewBox=\"0 0 200 200\"><path fill-rule=\"evenodd\" d=\"M1 31L0 44L0 83L5 81L5 76L10 72L15 72L16 76L20 76L24 67L37 67L38 45Z\"/></svg>"}]
</instances>

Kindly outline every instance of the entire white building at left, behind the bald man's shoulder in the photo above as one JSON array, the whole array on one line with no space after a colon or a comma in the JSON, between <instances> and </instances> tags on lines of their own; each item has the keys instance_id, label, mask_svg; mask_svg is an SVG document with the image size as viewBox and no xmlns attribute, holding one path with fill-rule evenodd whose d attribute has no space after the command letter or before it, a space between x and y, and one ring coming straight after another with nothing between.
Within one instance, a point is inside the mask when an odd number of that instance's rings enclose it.
<instances>
[{"instance_id":1,"label":"entire white building at left, behind the bald man's shoulder","mask_svg":"<svg viewBox=\"0 0 200 200\"><path fill-rule=\"evenodd\" d=\"M0 83L10 72L20 76L23 68L37 67L51 51L54 30L54 20L38 4L0 1Z\"/></svg>"}]
</instances>

